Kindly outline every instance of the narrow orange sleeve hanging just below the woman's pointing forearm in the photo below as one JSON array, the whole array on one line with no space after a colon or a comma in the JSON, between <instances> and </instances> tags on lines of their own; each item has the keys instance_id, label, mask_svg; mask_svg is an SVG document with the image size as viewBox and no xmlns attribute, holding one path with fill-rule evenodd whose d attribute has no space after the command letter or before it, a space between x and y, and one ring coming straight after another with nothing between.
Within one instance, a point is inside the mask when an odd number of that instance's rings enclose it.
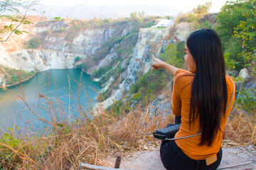
<instances>
[{"instance_id":1,"label":"narrow orange sleeve hanging just below the woman's pointing forearm","mask_svg":"<svg viewBox=\"0 0 256 170\"><path fill-rule=\"evenodd\" d=\"M180 69L178 69L178 71L179 70ZM183 70L183 69L181 69L181 70ZM172 113L174 113L174 115L181 115L181 96L179 96L180 89L178 88L178 87L180 87L178 85L178 83L181 81L178 81L179 76L177 75L177 72L176 72L176 77L174 79L174 89L173 89L173 93L172 93L171 108L172 108ZM178 72L178 73L180 73L180 72Z\"/></svg>"}]
</instances>

